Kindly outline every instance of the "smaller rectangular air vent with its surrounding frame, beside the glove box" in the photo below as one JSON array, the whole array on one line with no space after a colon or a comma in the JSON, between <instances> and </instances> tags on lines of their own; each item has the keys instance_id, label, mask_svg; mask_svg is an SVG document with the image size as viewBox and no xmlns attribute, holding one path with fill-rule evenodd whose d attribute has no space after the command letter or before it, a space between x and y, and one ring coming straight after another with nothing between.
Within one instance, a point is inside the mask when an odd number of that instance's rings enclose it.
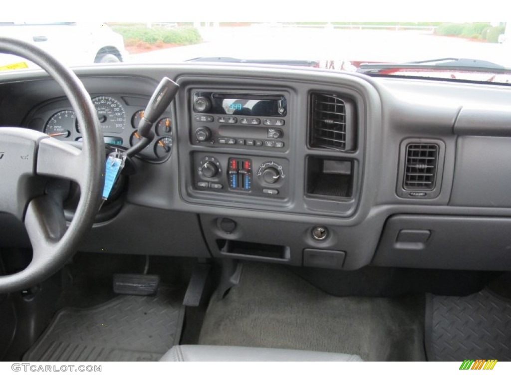
<instances>
[{"instance_id":1,"label":"smaller rectangular air vent with its surrounding frame, beside the glove box","mask_svg":"<svg viewBox=\"0 0 511 383\"><path fill-rule=\"evenodd\" d=\"M403 141L398 195L407 198L437 197L442 184L444 153L445 145L440 140L410 138Z\"/></svg>"}]
</instances>

